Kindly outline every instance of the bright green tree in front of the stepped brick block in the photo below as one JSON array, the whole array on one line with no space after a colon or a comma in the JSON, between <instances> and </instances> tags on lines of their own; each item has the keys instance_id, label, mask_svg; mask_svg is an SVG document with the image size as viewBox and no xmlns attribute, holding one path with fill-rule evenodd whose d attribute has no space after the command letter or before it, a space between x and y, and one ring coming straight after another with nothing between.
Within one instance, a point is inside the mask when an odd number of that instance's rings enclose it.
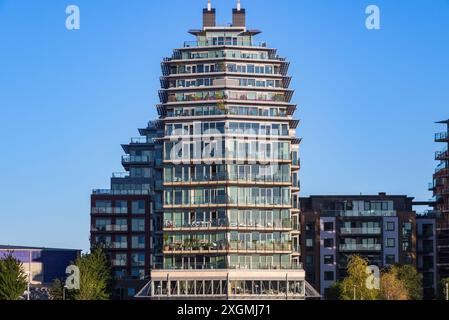
<instances>
[{"instance_id":1,"label":"bright green tree in front of the stepped brick block","mask_svg":"<svg viewBox=\"0 0 449 320\"><path fill-rule=\"evenodd\" d=\"M75 265L80 270L80 290L75 292L75 300L108 300L112 280L111 267L101 248L80 256Z\"/></svg>"}]
</instances>

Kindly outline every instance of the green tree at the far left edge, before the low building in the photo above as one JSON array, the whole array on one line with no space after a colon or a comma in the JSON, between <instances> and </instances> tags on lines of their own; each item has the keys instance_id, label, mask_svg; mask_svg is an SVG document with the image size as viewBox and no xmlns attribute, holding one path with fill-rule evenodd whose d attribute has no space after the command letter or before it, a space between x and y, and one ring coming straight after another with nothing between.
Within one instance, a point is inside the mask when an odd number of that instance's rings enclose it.
<instances>
[{"instance_id":1,"label":"green tree at the far left edge, before the low building","mask_svg":"<svg viewBox=\"0 0 449 320\"><path fill-rule=\"evenodd\" d=\"M0 300L18 300L26 291L27 276L12 252L0 260Z\"/></svg>"}]
</instances>

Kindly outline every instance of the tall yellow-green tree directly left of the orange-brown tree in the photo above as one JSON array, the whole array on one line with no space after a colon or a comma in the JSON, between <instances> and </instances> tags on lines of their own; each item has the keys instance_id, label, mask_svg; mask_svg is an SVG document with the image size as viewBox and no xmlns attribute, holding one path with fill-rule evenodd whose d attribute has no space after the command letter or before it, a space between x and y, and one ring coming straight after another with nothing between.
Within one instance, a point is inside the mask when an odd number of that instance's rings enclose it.
<instances>
[{"instance_id":1,"label":"tall yellow-green tree directly left of the orange-brown tree","mask_svg":"<svg viewBox=\"0 0 449 320\"><path fill-rule=\"evenodd\" d=\"M353 255L348 262L348 276L341 282L341 300L376 300L377 289L369 289L366 272L368 261L358 255Z\"/></svg>"}]
</instances>

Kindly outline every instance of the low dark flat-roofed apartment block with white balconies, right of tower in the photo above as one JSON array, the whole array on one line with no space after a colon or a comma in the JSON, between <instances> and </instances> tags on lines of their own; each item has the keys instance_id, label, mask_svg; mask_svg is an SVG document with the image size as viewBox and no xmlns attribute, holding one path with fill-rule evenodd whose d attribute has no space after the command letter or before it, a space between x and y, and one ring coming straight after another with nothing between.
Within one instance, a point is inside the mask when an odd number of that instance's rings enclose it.
<instances>
[{"instance_id":1,"label":"low dark flat-roofed apartment block with white balconies, right of tower","mask_svg":"<svg viewBox=\"0 0 449 320\"><path fill-rule=\"evenodd\" d=\"M354 254L380 268L416 265L412 201L385 193L301 198L306 280L324 296L335 281L346 277L348 260Z\"/></svg>"}]
</instances>

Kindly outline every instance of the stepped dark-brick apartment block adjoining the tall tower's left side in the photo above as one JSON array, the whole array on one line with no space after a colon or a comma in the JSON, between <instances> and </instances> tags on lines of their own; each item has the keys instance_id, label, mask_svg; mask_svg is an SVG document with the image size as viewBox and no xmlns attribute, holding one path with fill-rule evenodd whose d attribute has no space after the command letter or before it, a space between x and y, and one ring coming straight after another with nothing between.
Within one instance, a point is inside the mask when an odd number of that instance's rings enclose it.
<instances>
[{"instance_id":1,"label":"stepped dark-brick apartment block adjoining the tall tower's left side","mask_svg":"<svg viewBox=\"0 0 449 320\"><path fill-rule=\"evenodd\" d=\"M160 122L140 129L122 145L123 173L111 188L91 196L91 244L107 249L115 278L115 297L133 298L148 282L151 265L162 261L162 145Z\"/></svg>"}]
</instances>

